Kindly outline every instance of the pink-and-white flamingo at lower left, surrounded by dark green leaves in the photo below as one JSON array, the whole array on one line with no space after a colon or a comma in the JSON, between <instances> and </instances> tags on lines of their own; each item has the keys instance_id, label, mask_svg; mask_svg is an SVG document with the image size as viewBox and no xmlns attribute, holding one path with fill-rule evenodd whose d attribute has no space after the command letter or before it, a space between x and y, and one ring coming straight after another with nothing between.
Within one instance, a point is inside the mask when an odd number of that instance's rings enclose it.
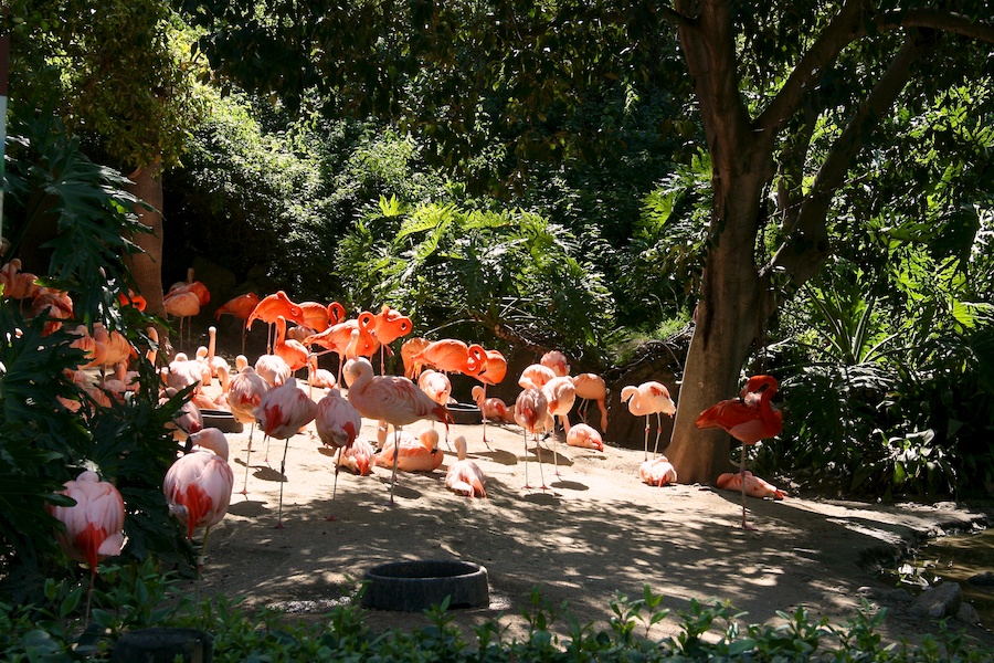
<instances>
[{"instance_id":1,"label":"pink-and-white flamingo at lower left, surrounded by dark green leaves","mask_svg":"<svg viewBox=\"0 0 994 663\"><path fill-rule=\"evenodd\" d=\"M59 494L75 501L72 506L45 508L65 530L56 530L55 539L70 559L85 561L89 566L89 588L86 591L86 618L89 623L89 603L97 564L102 559L120 555L124 546L125 507L120 493L113 484L101 481L96 472L86 470L75 480L63 484Z\"/></svg>"}]
</instances>

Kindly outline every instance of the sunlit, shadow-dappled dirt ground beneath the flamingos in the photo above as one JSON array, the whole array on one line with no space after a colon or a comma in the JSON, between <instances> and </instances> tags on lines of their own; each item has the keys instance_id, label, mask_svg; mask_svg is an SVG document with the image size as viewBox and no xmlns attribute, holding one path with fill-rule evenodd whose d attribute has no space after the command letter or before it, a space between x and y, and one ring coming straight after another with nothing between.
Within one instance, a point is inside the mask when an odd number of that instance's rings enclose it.
<instances>
[{"instance_id":1,"label":"sunlit, shadow-dappled dirt ground beneath the flamingos","mask_svg":"<svg viewBox=\"0 0 994 663\"><path fill-rule=\"evenodd\" d=\"M315 400L322 396L315 390ZM511 636L526 633L521 611L530 607L533 588L552 607L567 601L581 624L605 625L617 593L638 598L648 585L672 610L654 628L657 638L679 631L677 613L692 598L730 600L747 613L742 623L775 620L776 611L803 604L813 619L843 624L859 607L859 588L887 589L875 577L878 564L924 537L986 523L985 514L952 504L882 506L787 496L750 498L749 518L758 529L745 532L739 527L738 493L642 483L641 441L631 450L609 440L599 452L568 448L561 435L558 444L549 438L543 444L557 455L543 449L540 466L535 442L526 452L517 425L487 425L489 445L482 425L453 425L450 436L459 434L488 477L487 498L446 490L445 471L455 454L443 441L440 470L399 473L393 506L390 472L381 467L364 477L342 471L332 504L332 459L314 424L286 443L272 440L268 453L255 431L247 472L250 429L229 434L235 494L228 516L211 530L203 592L310 618L353 596L373 566L461 559L486 567L490 606L456 610L456 622L472 628L498 619ZM363 420L362 436L376 441L373 422ZM285 477L279 473L284 448ZM531 483L539 485L541 467L549 490L524 488L526 460ZM281 486L286 527L274 528ZM329 514L334 520L326 519ZM934 630L905 603L871 602L888 610L886 640ZM379 630L427 621L421 613L371 610L368 623ZM992 641L982 628L954 625ZM560 619L553 630L567 633L569 627Z\"/></svg>"}]
</instances>

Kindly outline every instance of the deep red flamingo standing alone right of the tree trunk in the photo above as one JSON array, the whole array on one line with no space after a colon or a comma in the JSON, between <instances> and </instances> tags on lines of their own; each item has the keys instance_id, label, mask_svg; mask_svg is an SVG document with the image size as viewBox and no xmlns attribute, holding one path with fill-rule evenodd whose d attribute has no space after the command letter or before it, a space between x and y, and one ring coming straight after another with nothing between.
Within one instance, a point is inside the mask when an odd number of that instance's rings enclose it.
<instances>
[{"instance_id":1,"label":"deep red flamingo standing alone right of the tree trunk","mask_svg":"<svg viewBox=\"0 0 994 663\"><path fill-rule=\"evenodd\" d=\"M730 398L711 406L700 413L695 422L699 429L720 428L742 443L739 474L745 476L745 446L765 438L780 434L783 430L783 413L770 400L776 393L776 378L752 376L745 382L739 398ZM745 524L745 481L740 482L742 491L742 529L751 529Z\"/></svg>"}]
</instances>

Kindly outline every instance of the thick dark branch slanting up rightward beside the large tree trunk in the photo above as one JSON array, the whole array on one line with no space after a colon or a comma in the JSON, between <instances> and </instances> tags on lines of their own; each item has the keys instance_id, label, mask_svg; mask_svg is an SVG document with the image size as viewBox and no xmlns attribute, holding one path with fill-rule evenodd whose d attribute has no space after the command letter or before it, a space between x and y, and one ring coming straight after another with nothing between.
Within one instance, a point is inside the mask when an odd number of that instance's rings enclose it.
<instances>
[{"instance_id":1,"label":"thick dark branch slanting up rightward beside the large tree trunk","mask_svg":"<svg viewBox=\"0 0 994 663\"><path fill-rule=\"evenodd\" d=\"M922 38L917 30L909 35L828 151L811 192L801 206L794 231L778 250L768 270L785 270L793 284L800 286L824 264L829 254L827 214L832 199L844 183L853 160L863 149L865 137L895 103L911 77L912 64L933 43L933 40Z\"/></svg>"}]
</instances>

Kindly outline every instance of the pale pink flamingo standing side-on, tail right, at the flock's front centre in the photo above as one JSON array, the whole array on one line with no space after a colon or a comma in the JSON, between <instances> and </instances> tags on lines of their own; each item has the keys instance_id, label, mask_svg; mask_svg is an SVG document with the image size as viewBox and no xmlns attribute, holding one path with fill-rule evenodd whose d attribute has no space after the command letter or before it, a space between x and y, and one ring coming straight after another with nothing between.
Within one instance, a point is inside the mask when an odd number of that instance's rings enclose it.
<instances>
[{"instance_id":1,"label":"pale pink flamingo standing side-on, tail right, at the flock's front centre","mask_svg":"<svg viewBox=\"0 0 994 663\"><path fill-rule=\"evenodd\" d=\"M359 414L374 421L393 424L394 444L399 430L420 419L441 421L448 427L452 418L445 406L440 406L409 380L398 376L373 376L372 365L366 357L349 359L345 365L349 385L349 401ZM393 455L393 472L390 477L390 504L393 504L393 486L396 483L396 460Z\"/></svg>"}]
</instances>

